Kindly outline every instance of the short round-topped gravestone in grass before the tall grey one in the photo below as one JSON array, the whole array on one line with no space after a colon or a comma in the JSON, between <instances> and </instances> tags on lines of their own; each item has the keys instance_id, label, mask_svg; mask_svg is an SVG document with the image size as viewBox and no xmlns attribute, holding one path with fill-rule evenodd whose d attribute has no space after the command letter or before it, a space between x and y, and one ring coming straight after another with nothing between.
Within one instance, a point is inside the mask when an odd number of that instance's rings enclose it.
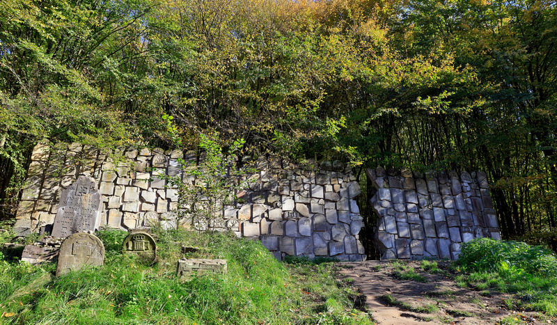
<instances>
[{"instance_id":1,"label":"short round-topped gravestone in grass before the tall grey one","mask_svg":"<svg viewBox=\"0 0 557 325\"><path fill-rule=\"evenodd\" d=\"M58 251L56 276L76 271L83 267L96 267L104 264L104 245L95 236L78 232L64 239Z\"/></svg>"}]
</instances>

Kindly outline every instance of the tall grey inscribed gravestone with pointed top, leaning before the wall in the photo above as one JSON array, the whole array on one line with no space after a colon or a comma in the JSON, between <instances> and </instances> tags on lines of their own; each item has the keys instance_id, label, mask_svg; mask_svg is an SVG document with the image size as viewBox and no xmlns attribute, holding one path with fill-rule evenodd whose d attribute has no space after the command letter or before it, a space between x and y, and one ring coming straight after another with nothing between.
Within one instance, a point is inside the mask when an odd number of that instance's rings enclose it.
<instances>
[{"instance_id":1,"label":"tall grey inscribed gravestone with pointed top, leaning before the wall","mask_svg":"<svg viewBox=\"0 0 557 325\"><path fill-rule=\"evenodd\" d=\"M62 191L54 218L52 237L65 238L76 232L93 232L99 228L102 199L93 178L81 175Z\"/></svg>"}]
</instances>

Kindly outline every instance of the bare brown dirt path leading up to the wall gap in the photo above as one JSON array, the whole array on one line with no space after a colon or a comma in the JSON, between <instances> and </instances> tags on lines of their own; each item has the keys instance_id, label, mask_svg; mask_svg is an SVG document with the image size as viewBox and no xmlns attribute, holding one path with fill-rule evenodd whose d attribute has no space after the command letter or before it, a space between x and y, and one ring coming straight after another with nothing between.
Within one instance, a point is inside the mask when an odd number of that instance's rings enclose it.
<instances>
[{"instance_id":1,"label":"bare brown dirt path leading up to the wall gap","mask_svg":"<svg viewBox=\"0 0 557 325\"><path fill-rule=\"evenodd\" d=\"M490 290L478 292L459 287L449 268L450 262L438 262L441 272L430 274L419 261L408 262L427 283L400 280L389 261L339 263L339 280L359 288L368 312L379 325L390 324L556 324L557 319L538 312L508 310L504 299L510 294ZM389 295L400 303L386 300ZM389 299L389 298L387 298ZM402 303L407 303L403 306ZM398 305L398 306L397 306ZM402 306L401 306L402 305ZM416 308L437 306L433 312ZM410 306L411 308L408 308ZM411 311L411 310L413 311Z\"/></svg>"}]
</instances>

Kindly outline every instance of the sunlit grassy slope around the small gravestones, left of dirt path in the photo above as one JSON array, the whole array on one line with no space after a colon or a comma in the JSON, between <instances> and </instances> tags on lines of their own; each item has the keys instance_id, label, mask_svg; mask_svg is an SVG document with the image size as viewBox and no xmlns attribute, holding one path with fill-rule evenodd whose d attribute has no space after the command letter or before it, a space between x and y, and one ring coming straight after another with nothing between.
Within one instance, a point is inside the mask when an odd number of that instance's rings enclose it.
<instances>
[{"instance_id":1,"label":"sunlit grassy slope around the small gravestones, left of dirt path","mask_svg":"<svg viewBox=\"0 0 557 325\"><path fill-rule=\"evenodd\" d=\"M124 235L109 232L99 235L104 240ZM1 324L371 323L366 313L352 310L347 296L354 292L336 285L330 264L319 270L311 269L315 264L291 267L275 260L259 241L228 233L156 230L153 235L159 260L152 267L117 254L109 242L104 267L59 278L53 276L55 264L0 260ZM178 243L206 247L188 256L224 258L228 273L178 279ZM316 306L322 306L320 312Z\"/></svg>"}]
</instances>

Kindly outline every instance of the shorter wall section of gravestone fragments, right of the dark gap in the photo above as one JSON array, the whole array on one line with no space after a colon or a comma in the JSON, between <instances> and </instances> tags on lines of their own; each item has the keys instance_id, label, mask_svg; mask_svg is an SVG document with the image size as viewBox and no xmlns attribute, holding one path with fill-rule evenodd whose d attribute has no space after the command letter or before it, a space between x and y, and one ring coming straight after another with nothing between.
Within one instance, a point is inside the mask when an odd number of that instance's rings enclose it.
<instances>
[{"instance_id":1,"label":"shorter wall section of gravestone fragments, right of the dark gap","mask_svg":"<svg viewBox=\"0 0 557 325\"><path fill-rule=\"evenodd\" d=\"M377 193L374 242L382 259L439 257L457 260L473 238L501 239L485 173L387 173L368 169Z\"/></svg>"}]
</instances>

